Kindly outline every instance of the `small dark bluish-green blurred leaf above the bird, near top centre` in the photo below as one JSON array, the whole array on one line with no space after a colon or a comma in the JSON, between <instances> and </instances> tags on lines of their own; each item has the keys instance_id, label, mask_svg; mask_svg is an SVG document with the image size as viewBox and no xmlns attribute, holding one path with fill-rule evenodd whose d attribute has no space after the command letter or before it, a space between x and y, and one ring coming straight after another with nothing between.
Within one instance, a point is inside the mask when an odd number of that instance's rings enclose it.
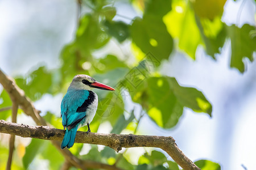
<instances>
[{"instance_id":1,"label":"small dark bluish-green blurred leaf above the bird, near top centre","mask_svg":"<svg viewBox=\"0 0 256 170\"><path fill-rule=\"evenodd\" d=\"M104 25L106 27L106 32L108 32L109 35L115 37L118 42L125 41L130 35L129 26L124 22L105 20Z\"/></svg>"}]
</instances>

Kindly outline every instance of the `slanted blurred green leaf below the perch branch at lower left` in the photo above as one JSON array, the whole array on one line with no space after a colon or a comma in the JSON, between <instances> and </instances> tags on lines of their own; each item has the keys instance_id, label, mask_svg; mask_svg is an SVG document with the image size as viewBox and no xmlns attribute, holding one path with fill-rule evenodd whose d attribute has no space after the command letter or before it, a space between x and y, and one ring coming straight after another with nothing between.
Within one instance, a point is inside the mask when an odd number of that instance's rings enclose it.
<instances>
[{"instance_id":1,"label":"slanted blurred green leaf below the perch branch at lower left","mask_svg":"<svg viewBox=\"0 0 256 170\"><path fill-rule=\"evenodd\" d=\"M30 145L26 147L26 153L22 158L23 166L25 169L28 168L32 160L44 146L44 141L42 139L33 138Z\"/></svg>"}]
</instances>

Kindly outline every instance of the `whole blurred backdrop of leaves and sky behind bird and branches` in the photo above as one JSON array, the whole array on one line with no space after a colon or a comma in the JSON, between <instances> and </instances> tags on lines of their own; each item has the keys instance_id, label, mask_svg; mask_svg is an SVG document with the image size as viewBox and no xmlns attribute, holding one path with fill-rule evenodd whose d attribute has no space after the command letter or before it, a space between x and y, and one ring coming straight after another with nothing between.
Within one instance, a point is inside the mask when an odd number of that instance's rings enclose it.
<instances>
[{"instance_id":1,"label":"whole blurred backdrop of leaves and sky behind bird and branches","mask_svg":"<svg viewBox=\"0 0 256 170\"><path fill-rule=\"evenodd\" d=\"M1 0L0 16L0 68L49 125L63 128L61 99L73 76L88 74L117 88L96 91L93 132L172 136L193 162L209 160L204 169L256 169L255 1ZM0 109L10 107L0 92ZM21 109L17 122L35 125ZM0 139L4 169L9 135ZM49 141L16 137L15 148L13 169L64 163ZM179 169L156 148L70 150L125 169Z\"/></svg>"}]
</instances>

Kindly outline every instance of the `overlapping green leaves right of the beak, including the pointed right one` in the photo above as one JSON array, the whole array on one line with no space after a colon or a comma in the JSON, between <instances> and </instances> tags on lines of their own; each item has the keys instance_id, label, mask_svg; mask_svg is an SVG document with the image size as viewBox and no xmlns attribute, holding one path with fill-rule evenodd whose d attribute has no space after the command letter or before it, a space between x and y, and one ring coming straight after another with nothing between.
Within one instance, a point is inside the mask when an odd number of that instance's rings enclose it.
<instances>
[{"instance_id":1,"label":"overlapping green leaves right of the beak, including the pointed right one","mask_svg":"<svg viewBox=\"0 0 256 170\"><path fill-rule=\"evenodd\" d=\"M183 113L183 107L211 116L212 105L195 88L179 86L175 78L166 76L143 78L141 81L139 86L134 86L127 80L125 87L131 92L133 101L141 104L158 126L175 126Z\"/></svg>"}]
</instances>

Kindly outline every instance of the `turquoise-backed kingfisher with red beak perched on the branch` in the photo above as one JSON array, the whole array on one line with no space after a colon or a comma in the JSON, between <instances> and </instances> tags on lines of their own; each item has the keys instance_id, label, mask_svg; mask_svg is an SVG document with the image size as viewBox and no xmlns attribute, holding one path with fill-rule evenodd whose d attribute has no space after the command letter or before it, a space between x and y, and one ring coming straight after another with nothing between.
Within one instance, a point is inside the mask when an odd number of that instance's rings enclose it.
<instances>
[{"instance_id":1,"label":"turquoise-backed kingfisher with red beak perched on the branch","mask_svg":"<svg viewBox=\"0 0 256 170\"><path fill-rule=\"evenodd\" d=\"M97 82L89 75L76 75L68 87L67 93L61 101L61 118L65 135L61 143L61 149L71 148L74 145L77 129L87 125L90 132L90 122L97 111L98 96L92 90L114 91L114 88Z\"/></svg>"}]
</instances>

